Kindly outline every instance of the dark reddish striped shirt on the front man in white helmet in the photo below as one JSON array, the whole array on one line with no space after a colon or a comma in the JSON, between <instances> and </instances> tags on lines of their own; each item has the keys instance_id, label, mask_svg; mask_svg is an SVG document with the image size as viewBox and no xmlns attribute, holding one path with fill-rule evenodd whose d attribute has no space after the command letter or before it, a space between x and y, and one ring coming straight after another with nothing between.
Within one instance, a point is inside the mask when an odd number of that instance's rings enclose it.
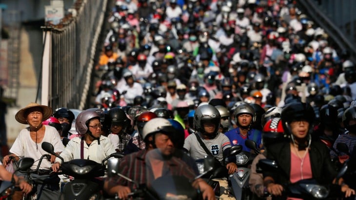
<instances>
[{"instance_id":1,"label":"dark reddish striped shirt on the front man in white helmet","mask_svg":"<svg viewBox=\"0 0 356 200\"><path fill-rule=\"evenodd\" d=\"M136 181L138 184L145 184L147 180L145 162L146 153L147 150L143 149L123 157L120 160L118 172ZM195 173L193 170L180 159L172 157L171 159L167 160L167 164L172 175L185 176L190 180L195 178ZM134 183L128 182L127 180L117 175L109 178L108 181L114 185L124 185L131 189L134 188Z\"/></svg>"}]
</instances>

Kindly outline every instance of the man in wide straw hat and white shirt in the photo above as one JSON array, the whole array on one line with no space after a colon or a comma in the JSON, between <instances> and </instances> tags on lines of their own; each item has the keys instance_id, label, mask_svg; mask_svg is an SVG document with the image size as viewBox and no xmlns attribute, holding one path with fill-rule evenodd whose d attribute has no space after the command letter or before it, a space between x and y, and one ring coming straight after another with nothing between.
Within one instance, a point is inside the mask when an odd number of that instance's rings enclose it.
<instances>
[{"instance_id":1,"label":"man in wide straw hat and white shirt","mask_svg":"<svg viewBox=\"0 0 356 200\"><path fill-rule=\"evenodd\" d=\"M42 125L42 122L52 115L52 109L48 106L39 105L37 103L30 103L25 108L20 109L15 119L21 124L27 124L26 127L20 131L14 144L10 149L10 155L3 158L2 162L6 166L9 163L9 156L30 157L35 161L39 160L43 154L47 154L42 148L42 142L49 142L54 146L55 152L61 152L64 146L61 143L60 136L56 128ZM32 173L31 176L37 185L37 199L59 199L59 177L57 175L50 175L51 163L54 163L55 156L51 156L51 160L42 160L39 171ZM39 162L31 167L36 169Z\"/></svg>"}]
</instances>

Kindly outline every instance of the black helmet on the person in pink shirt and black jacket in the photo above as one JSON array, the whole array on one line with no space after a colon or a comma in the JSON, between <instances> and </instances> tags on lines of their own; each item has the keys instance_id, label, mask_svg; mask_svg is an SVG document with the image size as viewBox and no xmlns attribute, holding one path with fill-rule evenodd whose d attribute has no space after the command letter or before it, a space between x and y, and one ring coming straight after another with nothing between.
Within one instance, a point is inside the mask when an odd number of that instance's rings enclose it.
<instances>
[{"instance_id":1,"label":"black helmet on the person in pink shirt and black jacket","mask_svg":"<svg viewBox=\"0 0 356 200\"><path fill-rule=\"evenodd\" d=\"M283 122L283 129L287 134L292 134L289 124L293 120L306 120L309 123L309 132L313 129L313 123L315 120L314 109L306 103L292 102L282 110L280 118Z\"/></svg>"}]
</instances>

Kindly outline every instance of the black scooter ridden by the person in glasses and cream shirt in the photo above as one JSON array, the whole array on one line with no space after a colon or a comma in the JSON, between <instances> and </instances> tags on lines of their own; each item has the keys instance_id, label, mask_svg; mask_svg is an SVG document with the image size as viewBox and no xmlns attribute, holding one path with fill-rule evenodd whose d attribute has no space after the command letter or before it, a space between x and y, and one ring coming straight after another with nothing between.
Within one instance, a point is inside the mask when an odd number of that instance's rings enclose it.
<instances>
[{"instance_id":1,"label":"black scooter ridden by the person in glasses and cream shirt","mask_svg":"<svg viewBox=\"0 0 356 200\"><path fill-rule=\"evenodd\" d=\"M104 163L111 157L123 157L120 153L113 153L106 157L101 164L87 159L74 159L64 162L63 158L54 152L52 144L43 142L42 149L55 155L62 161L61 172L58 174L74 178L74 180L64 185L63 191L60 194L61 200L99 200L101 198L101 180L99 177L105 174L106 167Z\"/></svg>"}]
</instances>

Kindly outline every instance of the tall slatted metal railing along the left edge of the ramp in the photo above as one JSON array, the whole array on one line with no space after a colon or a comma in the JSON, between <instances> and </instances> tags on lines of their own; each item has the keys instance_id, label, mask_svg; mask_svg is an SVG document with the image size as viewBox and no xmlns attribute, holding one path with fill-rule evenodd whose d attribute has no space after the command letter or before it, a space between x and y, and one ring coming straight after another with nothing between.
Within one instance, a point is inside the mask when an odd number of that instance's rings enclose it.
<instances>
[{"instance_id":1,"label":"tall slatted metal railing along the left edge of the ramp","mask_svg":"<svg viewBox=\"0 0 356 200\"><path fill-rule=\"evenodd\" d=\"M43 28L43 105L84 109L107 1L77 0L77 16Z\"/></svg>"}]
</instances>

